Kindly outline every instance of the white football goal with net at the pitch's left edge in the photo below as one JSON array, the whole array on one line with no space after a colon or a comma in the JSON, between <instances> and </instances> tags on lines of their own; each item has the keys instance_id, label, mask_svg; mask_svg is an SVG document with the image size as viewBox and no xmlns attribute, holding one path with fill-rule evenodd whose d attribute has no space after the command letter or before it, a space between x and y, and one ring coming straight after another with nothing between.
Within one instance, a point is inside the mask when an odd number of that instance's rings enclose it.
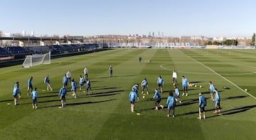
<instances>
[{"instance_id":1,"label":"white football goal with net at the pitch's left edge","mask_svg":"<svg viewBox=\"0 0 256 140\"><path fill-rule=\"evenodd\" d=\"M47 54L27 55L22 64L22 67L30 68L39 64L50 64L50 52Z\"/></svg>"}]
</instances>

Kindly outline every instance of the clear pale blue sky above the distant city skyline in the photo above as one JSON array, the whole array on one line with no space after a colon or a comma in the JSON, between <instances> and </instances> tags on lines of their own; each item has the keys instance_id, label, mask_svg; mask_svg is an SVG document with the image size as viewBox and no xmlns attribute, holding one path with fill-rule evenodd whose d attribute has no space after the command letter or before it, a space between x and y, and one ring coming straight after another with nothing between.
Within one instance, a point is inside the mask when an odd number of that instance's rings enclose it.
<instances>
[{"instance_id":1,"label":"clear pale blue sky above the distant city skyline","mask_svg":"<svg viewBox=\"0 0 256 140\"><path fill-rule=\"evenodd\" d=\"M252 36L255 0L0 0L0 30L36 35Z\"/></svg>"}]
</instances>

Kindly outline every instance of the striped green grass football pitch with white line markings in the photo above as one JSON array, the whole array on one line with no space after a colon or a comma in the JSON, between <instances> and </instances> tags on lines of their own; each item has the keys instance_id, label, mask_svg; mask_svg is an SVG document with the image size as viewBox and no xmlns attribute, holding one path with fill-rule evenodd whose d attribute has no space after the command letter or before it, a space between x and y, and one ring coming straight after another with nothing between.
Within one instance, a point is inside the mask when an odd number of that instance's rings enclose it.
<instances>
[{"instance_id":1,"label":"striped green grass football pitch with white line markings","mask_svg":"<svg viewBox=\"0 0 256 140\"><path fill-rule=\"evenodd\" d=\"M142 64L138 58L142 57ZM151 60L151 62L145 62ZM113 76L109 77L109 67ZM85 89L71 95L68 85L67 105L60 107L58 91L68 70L79 82L83 69L89 69L93 94ZM176 117L167 117L166 98L172 85L172 70L195 86L176 104ZM10 66L0 69L0 137L1 139L255 139L256 138L256 51L254 49L112 49L74 57L52 59L51 64L29 69ZM53 91L43 80L49 74ZM161 104L154 110L156 79L164 78ZM26 95L28 78L38 88L38 109L32 109ZM131 112L129 92L144 78L149 95ZM23 99L14 105L12 91L20 83ZM222 112L213 114L208 82L220 91ZM79 83L78 83L79 85ZM201 86L201 88L200 88ZM225 89L228 87L230 89ZM248 91L245 91L247 88ZM198 117L198 93L206 96L206 119ZM89 92L90 93L90 92ZM11 105L9 105L11 103ZM140 115L137 115L137 112Z\"/></svg>"}]
</instances>

